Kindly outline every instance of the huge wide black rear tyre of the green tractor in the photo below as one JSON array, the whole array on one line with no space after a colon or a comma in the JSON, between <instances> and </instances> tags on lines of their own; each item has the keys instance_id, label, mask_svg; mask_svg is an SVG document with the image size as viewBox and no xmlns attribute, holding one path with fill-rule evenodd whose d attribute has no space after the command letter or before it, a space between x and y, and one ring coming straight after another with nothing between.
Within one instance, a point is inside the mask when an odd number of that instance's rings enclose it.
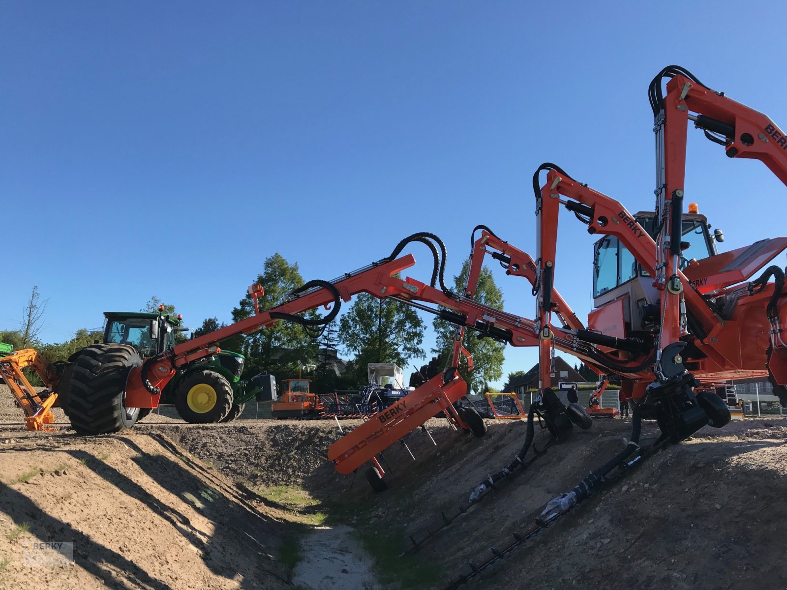
<instances>
[{"instance_id":1,"label":"huge wide black rear tyre of the green tractor","mask_svg":"<svg viewBox=\"0 0 787 590\"><path fill-rule=\"evenodd\" d=\"M67 407L79 434L105 434L131 428L139 407L126 407L126 381L142 359L135 348L97 344L79 351L68 379Z\"/></svg>"}]
</instances>

